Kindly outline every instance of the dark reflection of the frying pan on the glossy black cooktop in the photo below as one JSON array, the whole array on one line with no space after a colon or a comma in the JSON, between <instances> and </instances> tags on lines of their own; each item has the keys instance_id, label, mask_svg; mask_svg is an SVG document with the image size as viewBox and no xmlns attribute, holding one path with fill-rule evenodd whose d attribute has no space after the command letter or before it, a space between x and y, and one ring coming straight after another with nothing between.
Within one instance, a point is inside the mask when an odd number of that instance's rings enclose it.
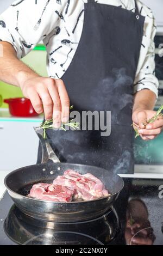
<instances>
[{"instance_id":1,"label":"dark reflection of the frying pan on the glossy black cooktop","mask_svg":"<svg viewBox=\"0 0 163 256\"><path fill-rule=\"evenodd\" d=\"M5 234L20 245L105 245L119 230L115 209L91 221L58 223L36 220L12 205L4 221Z\"/></svg>"}]
</instances>

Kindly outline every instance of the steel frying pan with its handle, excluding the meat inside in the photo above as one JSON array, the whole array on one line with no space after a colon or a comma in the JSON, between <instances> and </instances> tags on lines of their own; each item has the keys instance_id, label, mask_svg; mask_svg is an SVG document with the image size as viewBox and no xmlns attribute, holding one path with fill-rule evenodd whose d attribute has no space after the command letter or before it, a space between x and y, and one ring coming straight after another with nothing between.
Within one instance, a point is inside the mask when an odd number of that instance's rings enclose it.
<instances>
[{"instance_id":1,"label":"steel frying pan with its handle, excluding the meat inside","mask_svg":"<svg viewBox=\"0 0 163 256\"><path fill-rule=\"evenodd\" d=\"M103 168L84 164L61 163L49 144L43 139L43 130L35 128L42 144L42 163L22 167L9 173L4 184L10 197L24 214L50 222L78 222L98 218L107 212L124 186L120 176ZM111 193L96 200L84 202L49 202L26 197L33 184L52 183L65 170L73 169L80 174L91 173L100 179Z\"/></svg>"}]
</instances>

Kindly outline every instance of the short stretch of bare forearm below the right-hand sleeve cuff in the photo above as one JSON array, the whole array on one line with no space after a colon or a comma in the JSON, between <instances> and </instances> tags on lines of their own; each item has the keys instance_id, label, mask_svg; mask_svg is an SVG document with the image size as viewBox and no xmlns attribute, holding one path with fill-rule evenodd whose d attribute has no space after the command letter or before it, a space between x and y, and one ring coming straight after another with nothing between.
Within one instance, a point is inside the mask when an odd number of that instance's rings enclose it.
<instances>
[{"instance_id":1,"label":"short stretch of bare forearm below the right-hand sleeve cuff","mask_svg":"<svg viewBox=\"0 0 163 256\"><path fill-rule=\"evenodd\" d=\"M137 109L152 110L155 105L156 95L148 89L140 90L134 95L133 112Z\"/></svg>"}]
</instances>

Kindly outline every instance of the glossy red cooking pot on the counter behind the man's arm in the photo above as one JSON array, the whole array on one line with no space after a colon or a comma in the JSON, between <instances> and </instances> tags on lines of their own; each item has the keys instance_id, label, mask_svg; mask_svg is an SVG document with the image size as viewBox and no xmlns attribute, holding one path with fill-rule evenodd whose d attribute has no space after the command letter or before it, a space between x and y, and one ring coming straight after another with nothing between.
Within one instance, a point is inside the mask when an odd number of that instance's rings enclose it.
<instances>
[{"instance_id":1,"label":"glossy red cooking pot on the counter behind the man's arm","mask_svg":"<svg viewBox=\"0 0 163 256\"><path fill-rule=\"evenodd\" d=\"M29 99L26 98L11 98L5 99L5 103L9 104L9 111L14 117L36 117L37 114Z\"/></svg>"}]
</instances>

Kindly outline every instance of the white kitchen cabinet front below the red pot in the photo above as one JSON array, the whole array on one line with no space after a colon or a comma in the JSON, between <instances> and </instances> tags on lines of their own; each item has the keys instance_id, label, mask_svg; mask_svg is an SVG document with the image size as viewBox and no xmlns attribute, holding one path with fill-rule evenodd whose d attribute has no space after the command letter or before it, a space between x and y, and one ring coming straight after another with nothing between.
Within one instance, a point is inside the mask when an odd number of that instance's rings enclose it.
<instances>
[{"instance_id":1,"label":"white kitchen cabinet front below the red pot","mask_svg":"<svg viewBox=\"0 0 163 256\"><path fill-rule=\"evenodd\" d=\"M0 171L35 164L39 138L33 127L41 119L0 118Z\"/></svg>"}]
</instances>

